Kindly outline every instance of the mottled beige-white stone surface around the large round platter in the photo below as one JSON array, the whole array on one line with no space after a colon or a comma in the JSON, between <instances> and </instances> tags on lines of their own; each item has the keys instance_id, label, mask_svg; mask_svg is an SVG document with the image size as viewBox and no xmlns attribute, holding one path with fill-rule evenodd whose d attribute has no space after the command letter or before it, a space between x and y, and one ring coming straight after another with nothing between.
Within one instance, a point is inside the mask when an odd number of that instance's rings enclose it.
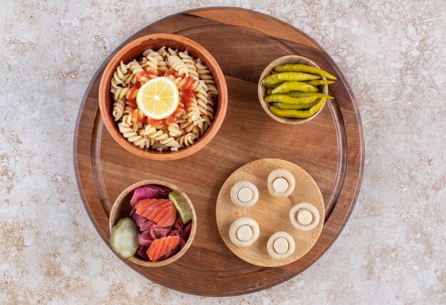
<instances>
[{"instance_id":1,"label":"mottled beige-white stone surface around the large round platter","mask_svg":"<svg viewBox=\"0 0 446 305\"><path fill-rule=\"evenodd\" d=\"M275 16L326 48L358 100L366 153L331 249L284 284L231 298L172 291L120 262L88 219L72 161L104 58L152 21L217 5ZM440 0L1 1L1 302L445 304L445 20Z\"/></svg>"}]
</instances>

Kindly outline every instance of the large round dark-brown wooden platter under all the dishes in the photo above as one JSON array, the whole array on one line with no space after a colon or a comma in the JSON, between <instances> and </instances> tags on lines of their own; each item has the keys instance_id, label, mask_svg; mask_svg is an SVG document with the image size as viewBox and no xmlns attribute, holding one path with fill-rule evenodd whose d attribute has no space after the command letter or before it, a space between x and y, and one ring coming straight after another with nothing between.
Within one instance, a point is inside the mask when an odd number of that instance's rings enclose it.
<instances>
[{"instance_id":1,"label":"large round dark-brown wooden platter under all the dishes","mask_svg":"<svg viewBox=\"0 0 446 305\"><path fill-rule=\"evenodd\" d=\"M116 51L110 54L85 91L73 143L78 189L100 236L110 246L108 217L125 187L159 179L177 185L190 197L197 211L197 232L185 255L167 266L147 268L123 261L147 279L190 294L230 296L266 289L303 272L341 233L361 186L363 129L346 78L309 36L254 11L186 11L147 26L128 41L150 33L186 36L212 53L227 81L227 115L214 140L191 157L157 162L128 153L103 128L98 109L100 76ZM338 77L329 91L335 99L327 102L317 118L301 125L272 120L257 97L261 71L287 54L311 58ZM262 158L289 160L304 168L325 202L318 241L304 257L282 267L258 267L239 259L224 244L215 222L215 204L224 181L237 168Z\"/></svg>"}]
</instances>

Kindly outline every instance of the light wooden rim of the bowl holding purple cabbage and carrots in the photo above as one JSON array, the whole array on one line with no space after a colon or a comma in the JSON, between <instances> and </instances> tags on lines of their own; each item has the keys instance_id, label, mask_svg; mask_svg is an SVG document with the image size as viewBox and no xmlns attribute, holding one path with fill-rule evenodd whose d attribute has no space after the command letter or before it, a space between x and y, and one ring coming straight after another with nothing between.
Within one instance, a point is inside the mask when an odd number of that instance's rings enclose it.
<instances>
[{"instance_id":1,"label":"light wooden rim of the bowl holding purple cabbage and carrots","mask_svg":"<svg viewBox=\"0 0 446 305\"><path fill-rule=\"evenodd\" d=\"M177 259L180 259L180 257L182 257L183 254L185 254L185 252L187 252L187 250L192 245L192 242L195 238L195 232L197 232L197 212L195 211L195 207L192 204L192 201L190 200L190 198L187 196L187 194L185 192L182 192L182 190L180 190L180 188L178 188L176 185L174 185L171 182L157 180L157 179L147 179L147 180L135 182L135 183L133 183L133 185L126 187L125 190L123 190L123 192L121 192L120 195L118 195L115 202L113 203L113 207L110 210L110 216L108 218L108 229L110 230L110 237L111 237L111 231L112 231L113 226L116 224L116 222L119 221L119 219L115 219L115 221L112 221L112 218L115 218L115 217L113 217L113 215L118 213L117 211L121 205L125 204L125 202L123 202L125 197L127 197L130 194L130 192L133 192L133 190L135 190L135 188L141 187L143 185L163 185L165 187L169 187L172 190L176 190L176 191L180 192L180 194L182 195L182 197L185 198L185 200L187 201L187 204L190 206L190 209L192 210L192 229L190 231L190 236L187 239L185 247L183 247L179 252L177 252L177 254L173 255L172 257L169 257L168 259L163 259L162 261L158 261L158 262L150 262L150 261L146 261L145 259L140 259L136 256L136 254L133 257L130 257L130 259L126 259L126 260L133 262L134 264L138 264L142 267L161 267L161 266L170 264L172 262L175 262ZM128 205L130 205L130 202L128 202ZM120 255L117 254L113 250L113 248L111 248L111 245L110 245L110 249L112 249L114 254L116 254L118 257L120 257ZM120 257L120 259L124 259L124 258Z\"/></svg>"}]
</instances>

